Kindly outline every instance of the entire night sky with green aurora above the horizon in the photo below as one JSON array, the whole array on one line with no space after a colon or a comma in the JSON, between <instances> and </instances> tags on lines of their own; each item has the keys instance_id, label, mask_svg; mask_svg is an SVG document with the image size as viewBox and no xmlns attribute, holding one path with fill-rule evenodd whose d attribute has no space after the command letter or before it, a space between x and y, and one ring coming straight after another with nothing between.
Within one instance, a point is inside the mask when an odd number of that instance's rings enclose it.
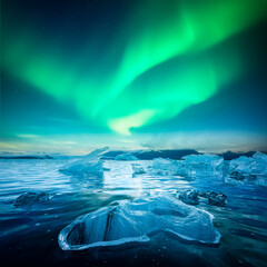
<instances>
[{"instance_id":1,"label":"entire night sky with green aurora above the horizon","mask_svg":"<svg viewBox=\"0 0 267 267\"><path fill-rule=\"evenodd\" d=\"M266 0L2 0L0 151L267 149Z\"/></svg>"}]
</instances>

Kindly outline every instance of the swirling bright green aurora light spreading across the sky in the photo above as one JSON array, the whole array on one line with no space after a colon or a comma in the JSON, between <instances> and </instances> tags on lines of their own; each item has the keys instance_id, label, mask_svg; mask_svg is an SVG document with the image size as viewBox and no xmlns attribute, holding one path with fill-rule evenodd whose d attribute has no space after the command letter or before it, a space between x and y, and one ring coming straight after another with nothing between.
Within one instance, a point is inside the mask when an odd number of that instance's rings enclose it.
<instances>
[{"instance_id":1,"label":"swirling bright green aurora light spreading across the sky","mask_svg":"<svg viewBox=\"0 0 267 267\"><path fill-rule=\"evenodd\" d=\"M132 8L98 62L90 58L93 37L66 57L48 37L22 29L7 33L2 65L86 120L130 135L243 75L247 65L237 47L214 49L263 19L266 8L264 0L147 0Z\"/></svg>"}]
</instances>

